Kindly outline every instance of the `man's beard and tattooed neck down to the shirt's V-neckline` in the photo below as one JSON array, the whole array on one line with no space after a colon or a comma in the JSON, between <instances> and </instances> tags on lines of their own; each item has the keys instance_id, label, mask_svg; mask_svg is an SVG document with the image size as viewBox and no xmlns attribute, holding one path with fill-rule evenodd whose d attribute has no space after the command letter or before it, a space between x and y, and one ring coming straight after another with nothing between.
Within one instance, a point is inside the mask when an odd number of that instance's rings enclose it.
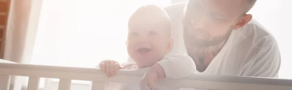
<instances>
[{"instance_id":1,"label":"man's beard and tattooed neck down to the shirt's V-neckline","mask_svg":"<svg viewBox=\"0 0 292 90\"><path fill-rule=\"evenodd\" d=\"M194 60L197 70L203 72L209 65L206 64L208 59L213 59L219 53L232 30L228 30L225 34L217 36L212 40L208 40L209 38L207 37L210 37L210 35L206 36L206 39L199 39L186 29L185 27L183 28L183 38L187 53Z\"/></svg>"}]
</instances>

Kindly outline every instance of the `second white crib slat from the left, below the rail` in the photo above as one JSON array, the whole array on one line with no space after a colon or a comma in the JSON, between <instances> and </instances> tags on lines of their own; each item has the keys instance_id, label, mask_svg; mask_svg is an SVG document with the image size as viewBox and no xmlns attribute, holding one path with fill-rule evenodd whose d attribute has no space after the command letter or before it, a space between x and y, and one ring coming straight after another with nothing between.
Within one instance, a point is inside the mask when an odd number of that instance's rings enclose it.
<instances>
[{"instance_id":1,"label":"second white crib slat from the left, below the rail","mask_svg":"<svg viewBox=\"0 0 292 90\"><path fill-rule=\"evenodd\" d=\"M27 90L38 90L39 77L29 77Z\"/></svg>"}]
</instances>

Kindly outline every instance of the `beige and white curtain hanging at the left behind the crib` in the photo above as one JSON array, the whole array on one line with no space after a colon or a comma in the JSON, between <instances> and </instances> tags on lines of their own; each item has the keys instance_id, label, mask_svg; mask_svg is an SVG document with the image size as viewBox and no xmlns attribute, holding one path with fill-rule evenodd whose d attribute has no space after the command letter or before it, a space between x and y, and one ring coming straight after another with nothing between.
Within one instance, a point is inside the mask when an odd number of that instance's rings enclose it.
<instances>
[{"instance_id":1,"label":"beige and white curtain hanging at the left behind the crib","mask_svg":"<svg viewBox=\"0 0 292 90\"><path fill-rule=\"evenodd\" d=\"M6 1L11 1L11 4L3 59L27 64L31 60L35 45L41 0ZM12 76L10 89L20 90L24 88L23 86L27 86L26 82L27 80L23 76Z\"/></svg>"}]
</instances>

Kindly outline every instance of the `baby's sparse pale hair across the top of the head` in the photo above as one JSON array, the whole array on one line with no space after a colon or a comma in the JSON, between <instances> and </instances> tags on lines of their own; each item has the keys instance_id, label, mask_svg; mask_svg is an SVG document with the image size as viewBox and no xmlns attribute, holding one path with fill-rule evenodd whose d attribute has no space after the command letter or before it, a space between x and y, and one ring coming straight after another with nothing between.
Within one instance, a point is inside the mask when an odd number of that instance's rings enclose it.
<instances>
[{"instance_id":1,"label":"baby's sparse pale hair across the top of the head","mask_svg":"<svg viewBox=\"0 0 292 90\"><path fill-rule=\"evenodd\" d=\"M164 11L164 9L160 8L157 5L143 5L138 8L129 18L128 20L128 28L133 27L135 23L139 23L139 20L154 20L158 21L157 25L161 25L160 27L165 28L167 31L166 34L171 36L171 22Z\"/></svg>"}]
</instances>

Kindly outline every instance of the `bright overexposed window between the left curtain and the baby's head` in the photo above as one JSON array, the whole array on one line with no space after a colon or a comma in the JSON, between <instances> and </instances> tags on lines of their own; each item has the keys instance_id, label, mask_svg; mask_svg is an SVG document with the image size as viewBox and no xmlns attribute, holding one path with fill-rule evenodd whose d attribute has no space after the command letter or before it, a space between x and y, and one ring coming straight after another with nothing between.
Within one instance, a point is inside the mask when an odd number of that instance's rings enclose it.
<instances>
[{"instance_id":1,"label":"bright overexposed window between the left curtain and the baby's head","mask_svg":"<svg viewBox=\"0 0 292 90\"><path fill-rule=\"evenodd\" d=\"M31 63L94 67L105 59L126 62L129 16L141 5L165 7L170 1L43 0ZM42 78L40 88L43 87Z\"/></svg>"}]
</instances>

